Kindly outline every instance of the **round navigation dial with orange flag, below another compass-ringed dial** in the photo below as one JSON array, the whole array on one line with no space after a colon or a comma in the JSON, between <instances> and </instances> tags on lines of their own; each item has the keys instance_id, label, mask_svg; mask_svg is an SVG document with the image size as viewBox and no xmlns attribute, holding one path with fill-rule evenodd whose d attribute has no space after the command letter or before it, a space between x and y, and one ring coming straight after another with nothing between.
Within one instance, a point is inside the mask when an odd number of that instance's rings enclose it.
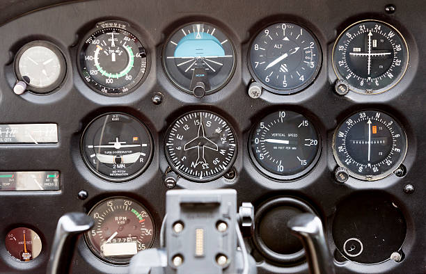
<instances>
[{"instance_id":1,"label":"round navigation dial with orange flag, below another compass-ringed dial","mask_svg":"<svg viewBox=\"0 0 426 274\"><path fill-rule=\"evenodd\" d=\"M333 137L339 166L354 178L382 179L400 166L407 152L407 136L400 124L380 111L361 111L340 124Z\"/></svg>"}]
</instances>

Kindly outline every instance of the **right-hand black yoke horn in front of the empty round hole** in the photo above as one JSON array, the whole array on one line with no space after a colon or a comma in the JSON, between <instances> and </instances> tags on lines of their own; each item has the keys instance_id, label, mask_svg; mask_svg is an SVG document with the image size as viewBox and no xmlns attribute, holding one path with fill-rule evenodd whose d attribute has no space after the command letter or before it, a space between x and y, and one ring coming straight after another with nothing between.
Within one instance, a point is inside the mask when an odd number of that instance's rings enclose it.
<instances>
[{"instance_id":1,"label":"right-hand black yoke horn in front of the empty round hole","mask_svg":"<svg viewBox=\"0 0 426 274\"><path fill-rule=\"evenodd\" d=\"M303 243L311 274L334 274L333 259L326 243L321 220L312 213L301 213L287 227Z\"/></svg>"}]
</instances>

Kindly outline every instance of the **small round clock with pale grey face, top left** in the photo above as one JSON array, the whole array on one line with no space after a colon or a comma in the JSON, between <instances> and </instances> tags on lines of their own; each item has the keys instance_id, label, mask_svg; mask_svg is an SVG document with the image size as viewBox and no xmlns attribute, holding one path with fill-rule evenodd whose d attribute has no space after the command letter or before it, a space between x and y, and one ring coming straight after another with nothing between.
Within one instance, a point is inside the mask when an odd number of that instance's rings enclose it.
<instances>
[{"instance_id":1,"label":"small round clock with pale grey face, top left","mask_svg":"<svg viewBox=\"0 0 426 274\"><path fill-rule=\"evenodd\" d=\"M47 41L33 41L19 49L15 59L15 74L28 90L47 93L58 88L66 74L61 50Z\"/></svg>"}]
</instances>

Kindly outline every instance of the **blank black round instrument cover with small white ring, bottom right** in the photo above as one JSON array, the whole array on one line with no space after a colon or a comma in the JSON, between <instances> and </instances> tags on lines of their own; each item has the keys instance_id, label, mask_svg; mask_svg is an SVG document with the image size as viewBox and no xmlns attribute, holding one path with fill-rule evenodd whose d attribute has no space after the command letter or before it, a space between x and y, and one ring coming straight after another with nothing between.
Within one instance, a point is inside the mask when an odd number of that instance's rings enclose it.
<instances>
[{"instance_id":1,"label":"blank black round instrument cover with small white ring, bottom right","mask_svg":"<svg viewBox=\"0 0 426 274\"><path fill-rule=\"evenodd\" d=\"M382 193L355 195L338 204L333 240L350 261L378 264L401 249L407 233L397 205Z\"/></svg>"}]
</instances>

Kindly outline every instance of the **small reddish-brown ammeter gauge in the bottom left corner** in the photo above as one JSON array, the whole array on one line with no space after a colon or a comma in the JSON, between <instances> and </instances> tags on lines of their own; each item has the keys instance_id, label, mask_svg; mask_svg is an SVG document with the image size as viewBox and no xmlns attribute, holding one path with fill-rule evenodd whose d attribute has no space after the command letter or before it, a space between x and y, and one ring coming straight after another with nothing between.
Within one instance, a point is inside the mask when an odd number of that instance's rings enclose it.
<instances>
[{"instance_id":1,"label":"small reddish-brown ammeter gauge in the bottom left corner","mask_svg":"<svg viewBox=\"0 0 426 274\"><path fill-rule=\"evenodd\" d=\"M40 236L33 229L17 227L6 235L6 250L19 261L36 259L42 250Z\"/></svg>"}]
</instances>

